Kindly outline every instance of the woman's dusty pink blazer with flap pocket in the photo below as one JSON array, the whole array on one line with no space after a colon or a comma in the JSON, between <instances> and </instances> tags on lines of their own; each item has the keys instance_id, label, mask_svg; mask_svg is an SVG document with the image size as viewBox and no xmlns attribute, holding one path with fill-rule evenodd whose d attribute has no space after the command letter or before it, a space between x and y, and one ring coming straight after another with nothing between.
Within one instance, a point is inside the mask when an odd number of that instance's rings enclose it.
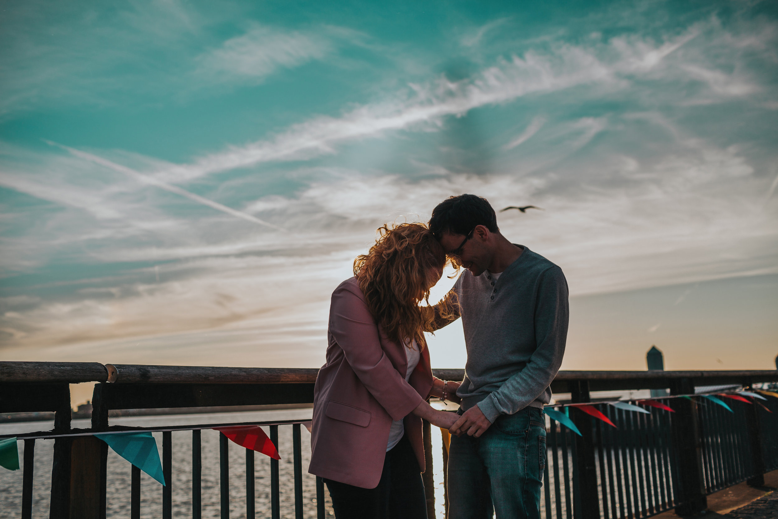
<instances>
[{"instance_id":1,"label":"woman's dusty pink blazer with flap pocket","mask_svg":"<svg viewBox=\"0 0 778 519\"><path fill-rule=\"evenodd\" d=\"M356 277L332 293L328 342L327 363L314 390L308 472L374 489L384 468L392 420L403 418L424 472L422 420L410 413L433 386L427 349L406 382L405 346L391 342L376 324Z\"/></svg>"}]
</instances>

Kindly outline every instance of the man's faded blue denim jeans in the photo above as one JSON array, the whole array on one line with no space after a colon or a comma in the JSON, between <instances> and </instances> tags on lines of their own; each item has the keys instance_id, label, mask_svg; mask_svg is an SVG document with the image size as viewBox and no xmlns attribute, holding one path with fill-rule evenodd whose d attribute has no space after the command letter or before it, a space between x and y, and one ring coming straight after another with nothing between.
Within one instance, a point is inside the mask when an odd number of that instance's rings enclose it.
<instances>
[{"instance_id":1,"label":"man's faded blue denim jeans","mask_svg":"<svg viewBox=\"0 0 778 519\"><path fill-rule=\"evenodd\" d=\"M451 437L449 519L536 519L545 468L545 416L499 416L480 438Z\"/></svg>"}]
</instances>

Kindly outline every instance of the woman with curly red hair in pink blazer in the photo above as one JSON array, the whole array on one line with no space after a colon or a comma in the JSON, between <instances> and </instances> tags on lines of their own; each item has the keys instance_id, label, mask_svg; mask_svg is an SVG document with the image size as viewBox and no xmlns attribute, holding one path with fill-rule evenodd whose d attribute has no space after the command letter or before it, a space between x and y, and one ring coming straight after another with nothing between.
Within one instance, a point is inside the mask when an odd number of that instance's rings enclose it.
<instances>
[{"instance_id":1,"label":"woman with curly red hair in pink blazer","mask_svg":"<svg viewBox=\"0 0 778 519\"><path fill-rule=\"evenodd\" d=\"M422 312L446 254L426 226L379 230L354 277L332 293L327 363L314 392L310 473L324 479L336 519L427 517L422 418L449 428L432 396L456 398L456 383L433 377Z\"/></svg>"}]
</instances>

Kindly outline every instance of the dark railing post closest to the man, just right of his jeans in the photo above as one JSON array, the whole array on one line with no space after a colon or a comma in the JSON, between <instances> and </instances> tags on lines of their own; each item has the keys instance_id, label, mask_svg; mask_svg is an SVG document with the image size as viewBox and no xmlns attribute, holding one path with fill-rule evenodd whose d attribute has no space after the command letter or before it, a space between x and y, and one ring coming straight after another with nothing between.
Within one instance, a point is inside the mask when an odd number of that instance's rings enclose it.
<instances>
[{"instance_id":1,"label":"dark railing post closest to the man, just right of his jeans","mask_svg":"<svg viewBox=\"0 0 778 519\"><path fill-rule=\"evenodd\" d=\"M591 402L587 380L573 380L569 383L569 387L573 403ZM580 510L577 510L576 517L600 519L600 498L597 488L597 465L594 461L594 431L591 416L575 408L573 408L573 412L575 413L575 422L582 435L576 437L576 470L573 474L573 478L578 482L579 496L576 497L576 503L580 503Z\"/></svg>"}]
</instances>

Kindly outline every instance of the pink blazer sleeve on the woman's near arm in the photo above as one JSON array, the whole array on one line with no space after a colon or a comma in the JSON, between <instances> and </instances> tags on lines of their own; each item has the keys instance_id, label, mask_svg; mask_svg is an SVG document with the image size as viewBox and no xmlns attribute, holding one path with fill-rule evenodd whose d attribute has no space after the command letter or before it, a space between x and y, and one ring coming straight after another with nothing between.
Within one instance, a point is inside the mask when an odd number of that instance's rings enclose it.
<instances>
[{"instance_id":1,"label":"pink blazer sleeve on the woman's near arm","mask_svg":"<svg viewBox=\"0 0 778 519\"><path fill-rule=\"evenodd\" d=\"M381 348L378 327L366 303L346 286L332 293L330 332L359 381L391 419L404 418L423 402Z\"/></svg>"}]
</instances>

